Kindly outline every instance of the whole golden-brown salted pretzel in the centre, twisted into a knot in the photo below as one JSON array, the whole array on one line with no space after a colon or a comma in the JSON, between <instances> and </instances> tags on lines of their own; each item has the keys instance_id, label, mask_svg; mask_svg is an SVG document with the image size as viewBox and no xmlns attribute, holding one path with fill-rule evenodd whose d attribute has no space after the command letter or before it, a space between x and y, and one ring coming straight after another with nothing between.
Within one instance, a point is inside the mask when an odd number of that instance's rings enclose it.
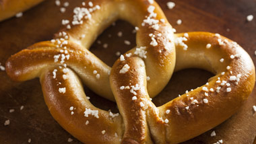
<instances>
[{"instance_id":1,"label":"whole golden-brown salted pretzel in the centre, twisted into a knot","mask_svg":"<svg viewBox=\"0 0 256 144\"><path fill-rule=\"evenodd\" d=\"M255 68L241 46L207 32L174 35L154 1L95 1L74 13L54 40L18 52L6 66L15 81L40 77L51 114L84 143L180 143L229 118L253 89ZM137 46L110 69L88 49L117 19L137 26ZM150 97L168 83L174 66L216 76L157 108ZM94 107L82 82L115 100L121 114Z\"/></svg>"}]
</instances>

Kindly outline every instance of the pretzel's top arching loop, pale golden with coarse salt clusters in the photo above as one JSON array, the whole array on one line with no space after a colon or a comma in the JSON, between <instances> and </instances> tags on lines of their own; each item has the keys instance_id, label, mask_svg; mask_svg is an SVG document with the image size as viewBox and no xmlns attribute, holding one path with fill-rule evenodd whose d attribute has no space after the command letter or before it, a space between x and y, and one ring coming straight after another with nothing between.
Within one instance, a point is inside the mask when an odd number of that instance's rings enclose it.
<instances>
[{"instance_id":1,"label":"pretzel's top arching loop, pale golden with coarse salt clusters","mask_svg":"<svg viewBox=\"0 0 256 144\"><path fill-rule=\"evenodd\" d=\"M147 0L95 1L94 5L100 5L100 9L91 13L90 20L83 20L82 25L65 30L69 36L69 40L89 49L98 34L117 19L126 20L137 26L139 29L136 35L137 48L142 48L141 50L147 52L146 55L141 57L147 57L147 59L143 58L146 63L147 75L154 81L154 83L148 83L148 91L151 98L154 98L154 96L162 91L166 83L168 83L175 63L174 35L172 27L168 24L162 9L160 9L157 3L150 5ZM152 13L156 13L156 18L152 19L152 16L150 16ZM134 15L136 16L134 17ZM147 20L146 17L151 18ZM155 21L159 23L155 25ZM145 26L141 26L142 23L145 23ZM159 27L158 30L152 28L153 26ZM150 44L152 37L158 37L157 34L161 35L157 40L155 39L158 45L152 46ZM84 38L83 35L85 35ZM131 49L127 52L128 56L131 56L129 53L134 54L135 51L136 48ZM124 56L126 57L126 55ZM164 61L162 60L163 57L166 58ZM94 90L94 87L98 87L98 85L90 88ZM100 87L104 87L104 85L100 85ZM94 92L109 100L113 100L114 98L111 91L104 92L104 94L100 94L97 90L94 90Z\"/></svg>"}]
</instances>

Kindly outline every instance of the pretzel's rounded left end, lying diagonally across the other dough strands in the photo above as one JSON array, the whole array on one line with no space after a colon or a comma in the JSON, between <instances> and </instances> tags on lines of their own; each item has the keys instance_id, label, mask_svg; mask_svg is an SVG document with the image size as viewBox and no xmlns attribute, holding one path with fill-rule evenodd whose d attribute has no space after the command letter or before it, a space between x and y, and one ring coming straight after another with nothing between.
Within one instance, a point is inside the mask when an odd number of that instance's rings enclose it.
<instances>
[{"instance_id":1,"label":"pretzel's rounded left end, lying diagonally across the other dough strands","mask_svg":"<svg viewBox=\"0 0 256 144\"><path fill-rule=\"evenodd\" d=\"M110 67L100 61L92 52L73 42L69 41L67 47L69 47L67 48L69 59L65 61L67 67L73 69L96 94L114 101L108 78ZM34 44L28 49L11 56L6 63L7 74L15 81L26 81L34 77L40 77L42 70L48 67L56 67L58 65L64 68L63 63L61 63L61 55L63 53L60 50L56 48L53 42L47 41ZM54 57L58 55L59 59L55 63ZM97 78L94 71L97 71L100 77Z\"/></svg>"}]
</instances>

